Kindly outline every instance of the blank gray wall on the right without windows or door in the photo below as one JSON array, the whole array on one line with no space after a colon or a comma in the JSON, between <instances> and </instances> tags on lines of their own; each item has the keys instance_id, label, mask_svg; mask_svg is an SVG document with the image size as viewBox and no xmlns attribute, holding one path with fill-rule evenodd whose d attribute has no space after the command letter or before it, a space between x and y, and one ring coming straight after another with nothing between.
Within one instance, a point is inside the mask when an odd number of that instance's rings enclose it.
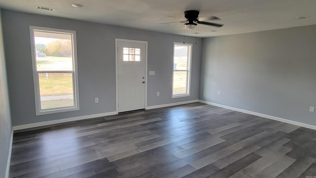
<instances>
[{"instance_id":1,"label":"blank gray wall on the right without windows or door","mask_svg":"<svg viewBox=\"0 0 316 178\"><path fill-rule=\"evenodd\" d=\"M201 100L316 126L315 77L315 25L202 40Z\"/></svg>"}]
</instances>

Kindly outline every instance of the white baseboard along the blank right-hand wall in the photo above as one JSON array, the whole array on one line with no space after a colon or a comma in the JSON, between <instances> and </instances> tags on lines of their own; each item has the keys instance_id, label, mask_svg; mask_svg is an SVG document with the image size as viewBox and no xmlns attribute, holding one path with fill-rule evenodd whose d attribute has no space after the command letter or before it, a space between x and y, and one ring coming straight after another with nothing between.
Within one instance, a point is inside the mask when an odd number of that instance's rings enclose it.
<instances>
[{"instance_id":1,"label":"white baseboard along the blank right-hand wall","mask_svg":"<svg viewBox=\"0 0 316 178\"><path fill-rule=\"evenodd\" d=\"M225 106L225 105L216 104L216 103L203 101L203 100L198 100L198 102L204 103L204 104L208 104L208 105L212 105L212 106L225 108L225 109L230 109L230 110L233 110L233 111L238 111L238 112L242 112L242 113L246 113L246 114L251 114L251 115L255 115L255 116L259 116L259 117L263 117L263 118L267 118L267 119L272 119L272 120L276 120L276 121L280 121L280 122L284 122L284 123L288 123L288 124L293 124L293 125L304 127L304 128L308 128L308 129L316 130L316 126L313 126L313 125L310 125L310 124L305 124L305 123L301 123L301 122L297 122L297 121L292 121L292 120L283 119L283 118L279 118L279 117L275 117L275 116L261 114L261 113L257 113L257 112L253 112L253 111L247 111L247 110L244 110L244 109L239 109L239 108L235 108L235 107Z\"/></svg>"}]
</instances>

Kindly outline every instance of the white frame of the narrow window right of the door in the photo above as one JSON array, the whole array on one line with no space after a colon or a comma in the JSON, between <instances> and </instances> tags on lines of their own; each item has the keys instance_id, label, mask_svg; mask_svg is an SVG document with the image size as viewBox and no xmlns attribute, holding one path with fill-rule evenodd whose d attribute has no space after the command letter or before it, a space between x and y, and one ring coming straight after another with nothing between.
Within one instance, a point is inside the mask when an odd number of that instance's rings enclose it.
<instances>
[{"instance_id":1,"label":"white frame of the narrow window right of the door","mask_svg":"<svg viewBox=\"0 0 316 178\"><path fill-rule=\"evenodd\" d=\"M175 45L183 45L183 46L187 46L188 47L188 53L187 53L187 70L174 70L174 46ZM178 42L174 42L173 43L173 60L172 60L172 95L171 98L179 98L179 97L186 97L186 96L190 96L190 90L191 90L191 64L192 64L192 50L193 50L193 45L192 44L187 44L187 43L178 43ZM173 94L173 80L174 80L174 72L181 72L181 71L185 71L187 72L187 84L186 84L186 93L182 93L182 94Z\"/></svg>"}]
</instances>

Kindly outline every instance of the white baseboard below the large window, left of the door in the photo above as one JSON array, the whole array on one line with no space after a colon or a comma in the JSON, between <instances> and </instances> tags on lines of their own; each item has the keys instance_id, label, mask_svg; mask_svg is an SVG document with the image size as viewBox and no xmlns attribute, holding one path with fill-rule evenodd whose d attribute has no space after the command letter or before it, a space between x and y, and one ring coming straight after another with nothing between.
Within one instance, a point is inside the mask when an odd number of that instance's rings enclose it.
<instances>
[{"instance_id":1,"label":"white baseboard below the large window, left of the door","mask_svg":"<svg viewBox=\"0 0 316 178\"><path fill-rule=\"evenodd\" d=\"M20 125L20 126L13 126L13 131L18 131L22 129L30 129L35 127L41 127L41 126L48 126L53 124L60 124L65 122L72 122L72 121L79 121L84 119L92 119L97 117L105 117L105 116L111 116L118 114L117 111L114 112L107 112L107 113L100 113L100 114L92 114L92 115L86 115L86 116L79 116L79 117L72 117L72 118L66 118L66 119L59 119L54 121L45 121L45 122L38 122L38 123L32 123L32 124L26 124L26 125Z\"/></svg>"}]
</instances>

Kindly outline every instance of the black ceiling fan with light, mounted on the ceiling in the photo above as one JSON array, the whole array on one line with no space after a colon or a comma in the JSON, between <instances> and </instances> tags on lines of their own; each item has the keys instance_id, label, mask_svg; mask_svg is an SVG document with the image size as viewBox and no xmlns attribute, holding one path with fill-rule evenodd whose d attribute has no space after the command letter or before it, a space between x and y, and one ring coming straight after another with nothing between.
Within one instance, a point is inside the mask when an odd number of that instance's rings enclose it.
<instances>
[{"instance_id":1,"label":"black ceiling fan with light, mounted on the ceiling","mask_svg":"<svg viewBox=\"0 0 316 178\"><path fill-rule=\"evenodd\" d=\"M185 27L187 29L190 29L190 30L196 28L197 24L210 25L210 26L214 26L214 27L222 27L223 26L223 24L199 21L198 14L199 14L199 11L197 11L197 10L187 10L184 12L184 17L186 19L183 19L186 21L181 21L181 22L185 23L184 24ZM208 18L208 20L220 20L220 18L218 18L216 16L211 16ZM169 24L169 23L180 23L180 22L167 22L167 23L162 23L162 24Z\"/></svg>"}]
</instances>

